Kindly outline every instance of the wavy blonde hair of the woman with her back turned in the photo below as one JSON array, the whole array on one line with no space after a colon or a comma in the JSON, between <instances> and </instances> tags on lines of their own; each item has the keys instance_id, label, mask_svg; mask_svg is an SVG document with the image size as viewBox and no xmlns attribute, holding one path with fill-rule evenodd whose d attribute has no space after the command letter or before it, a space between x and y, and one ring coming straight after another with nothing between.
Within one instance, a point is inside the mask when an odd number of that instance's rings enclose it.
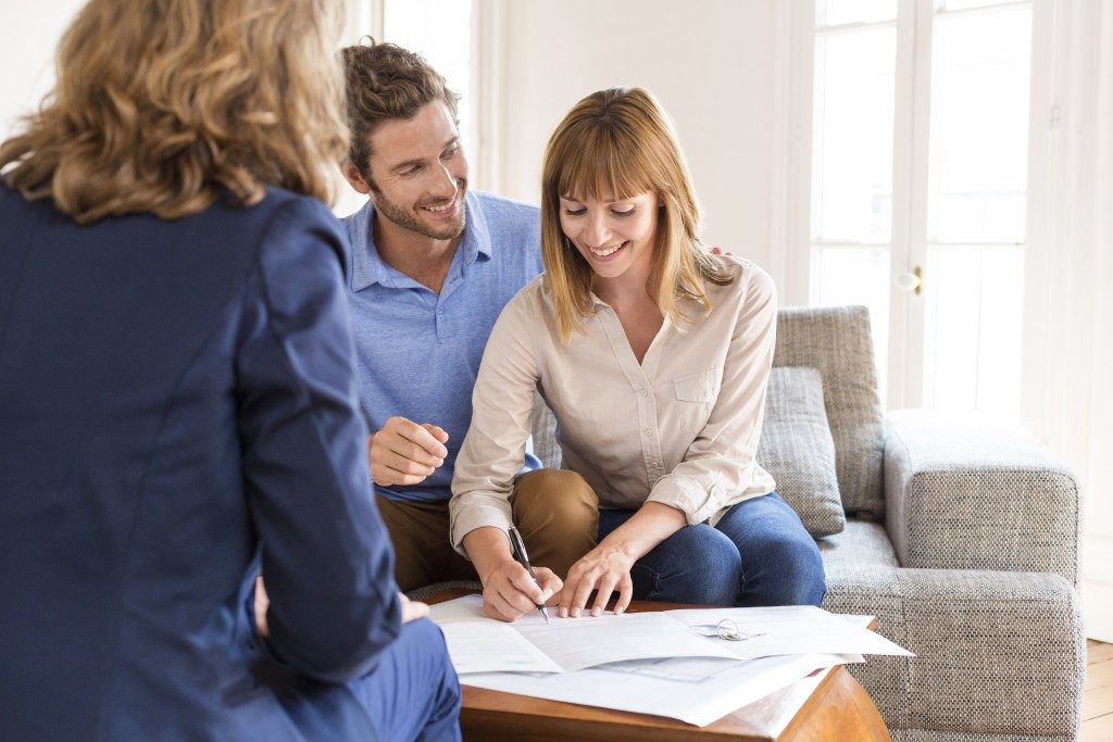
<instances>
[{"instance_id":1,"label":"wavy blonde hair of the woman with her back turned","mask_svg":"<svg viewBox=\"0 0 1113 742\"><path fill-rule=\"evenodd\" d=\"M252 205L267 185L331 201L342 24L341 0L91 0L53 91L0 145L2 177L77 221Z\"/></svg>"}]
</instances>

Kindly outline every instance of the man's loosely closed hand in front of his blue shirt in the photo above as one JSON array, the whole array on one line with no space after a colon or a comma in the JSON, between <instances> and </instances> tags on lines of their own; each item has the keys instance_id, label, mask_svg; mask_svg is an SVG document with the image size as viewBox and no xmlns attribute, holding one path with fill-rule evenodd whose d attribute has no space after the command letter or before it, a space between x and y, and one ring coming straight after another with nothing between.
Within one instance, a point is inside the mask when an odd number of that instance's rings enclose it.
<instances>
[{"instance_id":1,"label":"man's loosely closed hand in front of his blue shirt","mask_svg":"<svg viewBox=\"0 0 1113 742\"><path fill-rule=\"evenodd\" d=\"M367 437L371 478L381 487L424 482L444 464L447 442L449 434L436 425L392 417Z\"/></svg>"}]
</instances>

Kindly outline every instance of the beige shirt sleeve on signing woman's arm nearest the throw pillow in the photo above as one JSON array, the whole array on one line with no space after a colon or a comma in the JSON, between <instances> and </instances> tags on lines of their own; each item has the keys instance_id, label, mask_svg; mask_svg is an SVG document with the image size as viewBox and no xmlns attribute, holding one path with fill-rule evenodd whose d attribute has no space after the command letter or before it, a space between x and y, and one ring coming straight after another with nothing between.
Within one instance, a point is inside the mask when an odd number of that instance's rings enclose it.
<instances>
[{"instance_id":1,"label":"beige shirt sleeve on signing woman's arm nearest the throw pillow","mask_svg":"<svg viewBox=\"0 0 1113 742\"><path fill-rule=\"evenodd\" d=\"M702 523L755 485L766 387L777 340L777 289L767 273L746 271L745 297L730 335L722 382L711 414L683 459L653 484L650 502ZM770 478L771 479L771 478ZM768 487L761 487L767 494Z\"/></svg>"}]
</instances>

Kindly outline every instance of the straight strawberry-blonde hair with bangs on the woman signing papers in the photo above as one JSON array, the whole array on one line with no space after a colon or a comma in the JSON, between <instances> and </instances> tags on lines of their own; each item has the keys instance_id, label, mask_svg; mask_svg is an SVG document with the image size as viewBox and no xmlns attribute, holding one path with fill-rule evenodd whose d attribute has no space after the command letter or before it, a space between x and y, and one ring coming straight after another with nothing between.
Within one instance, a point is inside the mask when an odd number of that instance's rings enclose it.
<instances>
[{"instance_id":1,"label":"straight strawberry-blonde hair with bangs on the woman signing papers","mask_svg":"<svg viewBox=\"0 0 1113 742\"><path fill-rule=\"evenodd\" d=\"M700 210L688 165L668 115L644 88L593 92L568 112L545 147L541 175L541 255L562 340L591 314L594 271L568 243L560 226L560 198L623 199L644 192L661 200L658 240L648 290L661 314L684 319L681 299L706 309L706 283L732 278L699 238Z\"/></svg>"}]
</instances>

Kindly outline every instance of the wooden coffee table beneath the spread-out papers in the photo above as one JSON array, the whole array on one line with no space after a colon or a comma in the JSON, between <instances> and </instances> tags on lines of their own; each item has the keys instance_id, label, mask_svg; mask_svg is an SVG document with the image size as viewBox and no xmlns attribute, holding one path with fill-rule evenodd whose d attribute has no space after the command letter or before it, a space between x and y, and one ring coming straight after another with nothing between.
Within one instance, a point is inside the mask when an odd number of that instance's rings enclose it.
<instances>
[{"instance_id":1,"label":"wooden coffee table beneath the spread-out papers","mask_svg":"<svg viewBox=\"0 0 1113 742\"><path fill-rule=\"evenodd\" d=\"M430 603L475 591L450 590ZM629 613L693 607L634 601ZM695 606L699 607L699 606ZM876 626L876 621L870 629ZM460 726L464 739L550 742L802 742L890 740L865 689L845 667L816 671L708 726L627 711L548 701L463 685Z\"/></svg>"}]
</instances>

